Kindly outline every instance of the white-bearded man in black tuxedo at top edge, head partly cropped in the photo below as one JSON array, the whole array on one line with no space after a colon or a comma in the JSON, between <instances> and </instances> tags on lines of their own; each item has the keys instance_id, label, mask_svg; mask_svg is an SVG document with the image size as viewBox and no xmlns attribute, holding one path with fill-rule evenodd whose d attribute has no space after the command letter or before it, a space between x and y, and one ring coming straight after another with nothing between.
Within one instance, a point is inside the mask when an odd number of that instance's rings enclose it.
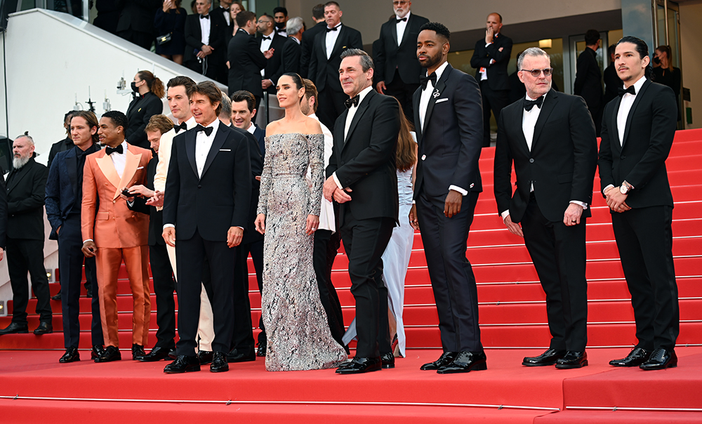
<instances>
[{"instance_id":1,"label":"white-bearded man in black tuxedo at top edge, head partly cropped","mask_svg":"<svg viewBox=\"0 0 702 424\"><path fill-rule=\"evenodd\" d=\"M407 119L414 122L412 95L419 88L422 71L417 60L417 36L419 28L429 20L411 13L410 6L411 1L392 2L395 18L380 27L378 51L373 49L373 57L378 69L375 76L378 93L396 98Z\"/></svg>"}]
</instances>

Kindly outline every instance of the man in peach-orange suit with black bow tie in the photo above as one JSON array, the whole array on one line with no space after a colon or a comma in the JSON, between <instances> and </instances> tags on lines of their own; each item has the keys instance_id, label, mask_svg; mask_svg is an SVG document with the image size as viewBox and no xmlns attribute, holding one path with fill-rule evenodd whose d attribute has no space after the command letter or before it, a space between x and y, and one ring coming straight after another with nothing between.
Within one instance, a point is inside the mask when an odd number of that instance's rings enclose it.
<instances>
[{"instance_id":1,"label":"man in peach-orange suit with black bow tie","mask_svg":"<svg viewBox=\"0 0 702 424\"><path fill-rule=\"evenodd\" d=\"M100 317L105 352L95 362L121 359L117 333L117 274L122 260L131 286L133 307L132 357L144 354L149 337L149 216L130 211L122 190L146 183L151 151L124 140L127 118L122 112L105 112L98 136L107 147L88 155L83 178L81 230L83 253L95 256L98 270Z\"/></svg>"}]
</instances>

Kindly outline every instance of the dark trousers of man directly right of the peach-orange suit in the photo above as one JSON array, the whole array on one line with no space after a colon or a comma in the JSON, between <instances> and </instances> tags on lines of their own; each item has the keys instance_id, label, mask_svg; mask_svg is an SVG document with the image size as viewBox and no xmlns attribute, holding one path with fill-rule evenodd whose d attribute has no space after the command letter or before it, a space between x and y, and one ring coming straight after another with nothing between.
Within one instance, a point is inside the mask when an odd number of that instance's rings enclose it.
<instances>
[{"instance_id":1,"label":"dark trousers of man directly right of the peach-orange suit","mask_svg":"<svg viewBox=\"0 0 702 424\"><path fill-rule=\"evenodd\" d=\"M176 347L176 301L173 299L176 281L173 281L173 269L166 245L149 246L149 257L156 295L156 325L159 327L154 347L171 350Z\"/></svg>"}]
</instances>

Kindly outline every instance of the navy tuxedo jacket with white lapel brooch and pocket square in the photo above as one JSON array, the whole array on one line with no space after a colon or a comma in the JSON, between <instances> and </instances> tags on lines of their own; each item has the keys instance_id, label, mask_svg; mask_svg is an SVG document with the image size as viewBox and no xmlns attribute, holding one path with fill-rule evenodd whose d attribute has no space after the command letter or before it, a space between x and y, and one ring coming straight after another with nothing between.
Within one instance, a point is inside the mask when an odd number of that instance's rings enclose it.
<instances>
[{"instance_id":1,"label":"navy tuxedo jacket with white lapel brooch and pocket square","mask_svg":"<svg viewBox=\"0 0 702 424\"><path fill-rule=\"evenodd\" d=\"M414 198L421 190L444 208L449 185L482 192L478 159L482 149L482 98L475 78L447 65L437 81L420 128L422 88L412 99L417 123L418 162Z\"/></svg>"}]
</instances>

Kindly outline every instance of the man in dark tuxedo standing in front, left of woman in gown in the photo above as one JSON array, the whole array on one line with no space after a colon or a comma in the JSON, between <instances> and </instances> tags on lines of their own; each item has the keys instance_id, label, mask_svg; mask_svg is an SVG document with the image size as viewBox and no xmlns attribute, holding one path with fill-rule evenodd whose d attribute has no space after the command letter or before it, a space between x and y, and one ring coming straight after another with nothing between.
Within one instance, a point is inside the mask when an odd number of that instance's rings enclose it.
<instances>
[{"instance_id":1,"label":"man in dark tuxedo standing in front, left of woman in gown","mask_svg":"<svg viewBox=\"0 0 702 424\"><path fill-rule=\"evenodd\" d=\"M237 16L238 18L238 16ZM166 243L175 246L178 268L176 360L165 373L199 371L195 355L204 260L210 268L215 338L210 371L229 371L227 352L234 331L234 263L249 222L249 142L222 124L222 92L210 81L188 93L199 124L173 139L164 194Z\"/></svg>"}]
</instances>

